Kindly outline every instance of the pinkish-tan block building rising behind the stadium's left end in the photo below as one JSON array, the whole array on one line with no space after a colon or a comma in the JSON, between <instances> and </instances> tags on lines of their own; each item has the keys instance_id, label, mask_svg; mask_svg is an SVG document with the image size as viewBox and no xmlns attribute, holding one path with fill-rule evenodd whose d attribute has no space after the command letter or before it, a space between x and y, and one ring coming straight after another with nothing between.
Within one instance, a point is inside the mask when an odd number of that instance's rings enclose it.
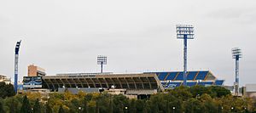
<instances>
[{"instance_id":1,"label":"pinkish-tan block building rising behind the stadium's left end","mask_svg":"<svg viewBox=\"0 0 256 113\"><path fill-rule=\"evenodd\" d=\"M28 65L27 76L45 76L45 70L37 65Z\"/></svg>"}]
</instances>

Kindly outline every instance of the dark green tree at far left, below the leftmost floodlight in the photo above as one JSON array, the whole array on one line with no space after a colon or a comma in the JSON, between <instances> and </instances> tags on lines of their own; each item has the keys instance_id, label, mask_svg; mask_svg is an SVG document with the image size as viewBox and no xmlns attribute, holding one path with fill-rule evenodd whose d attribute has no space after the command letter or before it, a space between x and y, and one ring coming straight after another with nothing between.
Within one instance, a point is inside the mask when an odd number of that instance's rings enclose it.
<instances>
[{"instance_id":1,"label":"dark green tree at far left, below the leftmost floodlight","mask_svg":"<svg viewBox=\"0 0 256 113\"><path fill-rule=\"evenodd\" d=\"M0 98L5 99L6 97L15 96L15 88L12 84L6 84L5 82L0 82Z\"/></svg>"}]
</instances>

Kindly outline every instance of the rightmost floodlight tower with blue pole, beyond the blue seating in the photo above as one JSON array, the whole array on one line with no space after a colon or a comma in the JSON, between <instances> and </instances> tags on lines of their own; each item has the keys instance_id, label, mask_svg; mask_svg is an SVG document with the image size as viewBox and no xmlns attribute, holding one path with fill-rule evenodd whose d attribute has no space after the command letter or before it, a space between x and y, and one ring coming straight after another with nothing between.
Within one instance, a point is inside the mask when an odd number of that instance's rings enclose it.
<instances>
[{"instance_id":1,"label":"rightmost floodlight tower with blue pole, beyond the blue seating","mask_svg":"<svg viewBox=\"0 0 256 113\"><path fill-rule=\"evenodd\" d=\"M235 82L235 94L238 96L239 94L239 59L241 58L241 49L240 48L232 48L232 56L233 59L236 59L236 82Z\"/></svg>"}]
</instances>

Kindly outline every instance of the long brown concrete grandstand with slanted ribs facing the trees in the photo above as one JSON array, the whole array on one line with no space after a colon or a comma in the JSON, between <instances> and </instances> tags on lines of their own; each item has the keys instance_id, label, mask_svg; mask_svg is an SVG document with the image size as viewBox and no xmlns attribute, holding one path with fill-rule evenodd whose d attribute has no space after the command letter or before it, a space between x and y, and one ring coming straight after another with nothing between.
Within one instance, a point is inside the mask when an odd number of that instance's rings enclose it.
<instances>
[{"instance_id":1,"label":"long brown concrete grandstand with slanted ribs facing the trees","mask_svg":"<svg viewBox=\"0 0 256 113\"><path fill-rule=\"evenodd\" d=\"M164 91L155 74L71 74L84 76L43 76L43 88L57 92L61 88L125 89L125 94L153 94Z\"/></svg>"}]
</instances>

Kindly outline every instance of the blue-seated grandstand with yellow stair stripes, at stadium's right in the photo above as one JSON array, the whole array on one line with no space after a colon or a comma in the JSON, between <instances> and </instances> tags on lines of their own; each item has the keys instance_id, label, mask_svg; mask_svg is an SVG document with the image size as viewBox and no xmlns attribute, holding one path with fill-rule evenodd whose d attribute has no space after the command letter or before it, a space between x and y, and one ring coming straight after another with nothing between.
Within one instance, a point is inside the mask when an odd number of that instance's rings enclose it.
<instances>
[{"instance_id":1,"label":"blue-seated grandstand with yellow stair stripes, at stadium's right","mask_svg":"<svg viewBox=\"0 0 256 113\"><path fill-rule=\"evenodd\" d=\"M145 73L156 74L164 88L176 88L183 85L183 71L145 72ZM224 80L218 80L216 76L213 76L211 71L188 71L187 85L189 87L192 87L195 85L223 86Z\"/></svg>"}]
</instances>

